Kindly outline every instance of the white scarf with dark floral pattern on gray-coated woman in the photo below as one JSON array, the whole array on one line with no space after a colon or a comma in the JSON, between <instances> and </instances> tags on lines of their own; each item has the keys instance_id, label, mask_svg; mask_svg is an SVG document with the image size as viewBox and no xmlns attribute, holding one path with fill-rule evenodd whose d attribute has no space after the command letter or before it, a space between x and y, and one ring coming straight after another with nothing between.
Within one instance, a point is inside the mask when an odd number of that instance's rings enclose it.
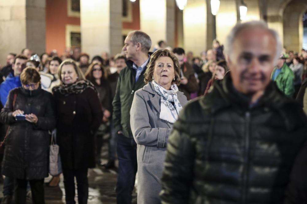
<instances>
[{"instance_id":1,"label":"white scarf with dark floral pattern on gray-coated woman","mask_svg":"<svg viewBox=\"0 0 307 204\"><path fill-rule=\"evenodd\" d=\"M176 84L172 84L170 90L166 90L157 84L154 80L152 81L154 90L160 95L161 98L161 110L160 110L160 119L175 123L179 111L182 109L182 106L177 98L178 87ZM175 106L172 104L175 104Z\"/></svg>"}]
</instances>

